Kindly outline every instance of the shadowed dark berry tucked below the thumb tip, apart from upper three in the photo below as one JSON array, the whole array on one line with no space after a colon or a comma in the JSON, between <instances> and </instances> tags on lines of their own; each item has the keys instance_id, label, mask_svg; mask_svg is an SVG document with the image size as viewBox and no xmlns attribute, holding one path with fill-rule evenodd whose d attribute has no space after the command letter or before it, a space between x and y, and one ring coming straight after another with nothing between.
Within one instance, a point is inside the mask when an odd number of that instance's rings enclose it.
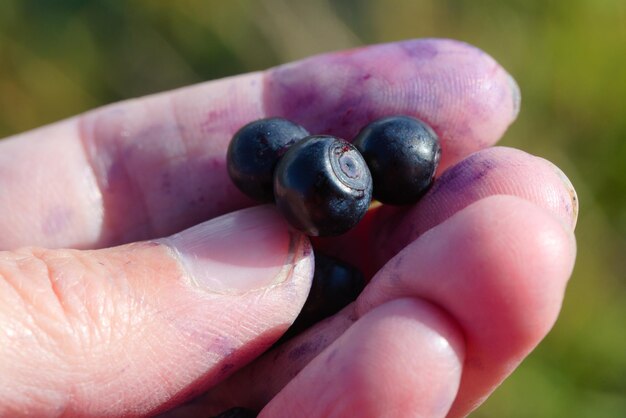
<instances>
[{"instance_id":1,"label":"shadowed dark berry tucked below the thumb tip, apart from upper three","mask_svg":"<svg viewBox=\"0 0 626 418\"><path fill-rule=\"evenodd\" d=\"M364 288L365 278L356 267L316 252L315 273L309 296L295 322L280 341L336 314L353 302Z\"/></svg>"}]
</instances>

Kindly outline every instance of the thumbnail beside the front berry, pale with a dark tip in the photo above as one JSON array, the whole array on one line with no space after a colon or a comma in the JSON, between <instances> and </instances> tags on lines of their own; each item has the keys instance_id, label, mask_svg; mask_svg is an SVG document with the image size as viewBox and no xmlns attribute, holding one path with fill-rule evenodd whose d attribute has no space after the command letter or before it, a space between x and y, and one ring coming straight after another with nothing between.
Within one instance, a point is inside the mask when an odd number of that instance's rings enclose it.
<instances>
[{"instance_id":1,"label":"thumbnail beside the front berry, pale with a dark tip","mask_svg":"<svg viewBox=\"0 0 626 418\"><path fill-rule=\"evenodd\" d=\"M199 287L242 294L286 280L299 240L302 236L267 205L220 216L160 242Z\"/></svg>"}]
</instances>

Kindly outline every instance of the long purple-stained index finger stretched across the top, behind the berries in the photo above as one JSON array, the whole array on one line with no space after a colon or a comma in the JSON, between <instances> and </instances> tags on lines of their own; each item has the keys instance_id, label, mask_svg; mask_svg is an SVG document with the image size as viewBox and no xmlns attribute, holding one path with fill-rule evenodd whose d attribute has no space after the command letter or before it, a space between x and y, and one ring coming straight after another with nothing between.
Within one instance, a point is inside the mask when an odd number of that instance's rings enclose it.
<instances>
[{"instance_id":1,"label":"long purple-stained index finger stretched across the top, behind the berries","mask_svg":"<svg viewBox=\"0 0 626 418\"><path fill-rule=\"evenodd\" d=\"M109 106L0 143L0 248L119 244L250 205L227 178L226 147L264 116L349 139L378 116L414 115L440 135L445 167L496 142L518 106L491 57L449 40L321 55Z\"/></svg>"}]
</instances>

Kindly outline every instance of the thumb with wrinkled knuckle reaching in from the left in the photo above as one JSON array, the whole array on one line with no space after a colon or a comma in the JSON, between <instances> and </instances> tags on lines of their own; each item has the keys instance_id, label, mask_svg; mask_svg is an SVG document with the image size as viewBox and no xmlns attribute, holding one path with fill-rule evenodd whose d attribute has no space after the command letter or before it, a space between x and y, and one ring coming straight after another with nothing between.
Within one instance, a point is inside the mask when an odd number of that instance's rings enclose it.
<instances>
[{"instance_id":1,"label":"thumb with wrinkled knuckle reaching in from the left","mask_svg":"<svg viewBox=\"0 0 626 418\"><path fill-rule=\"evenodd\" d=\"M288 328L308 239L269 206L96 251L0 253L0 416L158 412Z\"/></svg>"}]
</instances>

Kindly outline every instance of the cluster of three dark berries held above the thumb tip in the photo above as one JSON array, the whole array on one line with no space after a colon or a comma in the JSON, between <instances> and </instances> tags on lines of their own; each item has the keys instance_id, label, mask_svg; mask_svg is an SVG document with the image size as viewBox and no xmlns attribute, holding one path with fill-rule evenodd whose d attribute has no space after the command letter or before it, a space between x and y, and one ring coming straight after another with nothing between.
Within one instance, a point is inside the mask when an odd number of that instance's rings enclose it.
<instances>
[{"instance_id":1,"label":"cluster of three dark berries held above the thumb tip","mask_svg":"<svg viewBox=\"0 0 626 418\"><path fill-rule=\"evenodd\" d=\"M432 184L441 156L435 132L410 116L366 125L353 143L309 135L282 118L260 119L230 142L228 173L246 195L276 203L296 229L339 235L381 203L415 203Z\"/></svg>"}]
</instances>

